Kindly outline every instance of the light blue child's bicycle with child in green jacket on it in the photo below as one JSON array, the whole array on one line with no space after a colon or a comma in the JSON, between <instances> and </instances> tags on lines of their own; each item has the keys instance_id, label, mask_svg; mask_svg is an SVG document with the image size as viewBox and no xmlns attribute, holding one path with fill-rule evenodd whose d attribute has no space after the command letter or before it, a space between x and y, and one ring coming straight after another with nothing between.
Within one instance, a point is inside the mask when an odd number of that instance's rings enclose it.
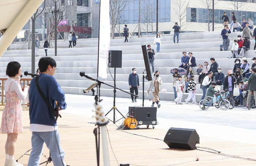
<instances>
[{"instance_id":1,"label":"light blue child's bicycle with child in green jacket on it","mask_svg":"<svg viewBox=\"0 0 256 166\"><path fill-rule=\"evenodd\" d=\"M216 105L216 108L221 108L222 110L228 110L230 107L230 103L228 100L223 99L221 94L224 94L225 92L217 92L216 93L216 103L218 105ZM207 98L207 99L203 99L199 102L199 108L202 110L207 110L209 107L213 107L214 103L213 103L213 99L211 98Z\"/></svg>"}]
</instances>

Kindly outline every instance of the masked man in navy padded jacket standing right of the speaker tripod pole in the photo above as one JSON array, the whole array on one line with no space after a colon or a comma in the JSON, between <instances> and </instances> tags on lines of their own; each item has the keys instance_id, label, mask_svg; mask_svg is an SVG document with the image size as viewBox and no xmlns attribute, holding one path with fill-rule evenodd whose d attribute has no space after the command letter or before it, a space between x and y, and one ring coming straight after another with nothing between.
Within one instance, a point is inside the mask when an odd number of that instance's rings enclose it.
<instances>
[{"instance_id":1,"label":"masked man in navy padded jacket standing right of the speaker tripod pole","mask_svg":"<svg viewBox=\"0 0 256 166\"><path fill-rule=\"evenodd\" d=\"M129 75L129 79L128 79L128 83L129 83L129 87L130 87L130 93L134 94L135 91L135 95L139 94L139 90L138 88L140 87L140 82L139 82L139 75L136 74L136 68L133 67L132 68L132 73ZM132 98L132 102L134 103L137 102L137 97L131 95ZM133 100L134 99L134 100Z\"/></svg>"}]
</instances>

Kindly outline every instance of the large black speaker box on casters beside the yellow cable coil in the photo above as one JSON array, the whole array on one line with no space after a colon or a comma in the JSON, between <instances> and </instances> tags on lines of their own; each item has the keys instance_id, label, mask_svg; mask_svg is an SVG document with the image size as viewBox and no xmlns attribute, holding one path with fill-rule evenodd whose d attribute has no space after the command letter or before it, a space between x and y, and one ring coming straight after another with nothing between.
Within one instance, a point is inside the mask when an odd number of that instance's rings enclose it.
<instances>
[{"instance_id":1,"label":"large black speaker box on casters beside the yellow cable coil","mask_svg":"<svg viewBox=\"0 0 256 166\"><path fill-rule=\"evenodd\" d=\"M129 116L137 121L157 121L157 107L129 107Z\"/></svg>"}]
</instances>

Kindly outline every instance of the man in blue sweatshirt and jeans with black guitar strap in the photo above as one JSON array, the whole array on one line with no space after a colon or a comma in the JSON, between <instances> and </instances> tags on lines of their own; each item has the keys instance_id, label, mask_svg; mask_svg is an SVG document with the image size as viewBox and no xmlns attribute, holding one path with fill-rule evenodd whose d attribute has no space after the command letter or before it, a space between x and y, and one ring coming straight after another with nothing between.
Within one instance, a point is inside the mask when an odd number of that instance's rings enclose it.
<instances>
[{"instance_id":1,"label":"man in blue sweatshirt and jeans with black guitar strap","mask_svg":"<svg viewBox=\"0 0 256 166\"><path fill-rule=\"evenodd\" d=\"M38 63L41 74L38 76L38 84L42 92L54 107L55 101L59 109L65 109L65 93L61 90L60 85L56 82L53 75L55 74L56 62L50 57L43 57ZM66 166L64 162L65 153L60 146L60 137L58 132L57 121L53 112L45 103L37 90L36 78L30 82L29 91L29 117L30 131L32 131L31 143L33 150L30 153L28 166L38 166L40 155L46 143L54 165Z\"/></svg>"}]
</instances>

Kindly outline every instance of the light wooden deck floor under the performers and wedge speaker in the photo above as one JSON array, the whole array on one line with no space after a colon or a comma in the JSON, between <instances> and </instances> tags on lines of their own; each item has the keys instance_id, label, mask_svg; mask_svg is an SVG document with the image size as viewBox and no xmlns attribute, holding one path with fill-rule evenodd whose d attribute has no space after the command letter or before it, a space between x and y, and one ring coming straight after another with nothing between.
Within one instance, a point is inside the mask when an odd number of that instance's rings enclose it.
<instances>
[{"instance_id":1,"label":"light wooden deck floor under the performers and wedge speaker","mask_svg":"<svg viewBox=\"0 0 256 166\"><path fill-rule=\"evenodd\" d=\"M0 116L3 111L0 111ZM61 146L65 151L65 162L71 166L97 166L95 136L93 130L94 118L82 115L62 113L63 117L58 119ZM31 132L29 130L29 111L23 111L24 133L18 135L16 142L15 159L31 149ZM118 124L118 123L117 123ZM158 138L151 139L138 135L128 134L118 131L113 123L107 125L111 145L116 155L113 155L110 144L109 158L111 166L118 166L120 163L129 163L138 166L255 166L256 161L226 157L200 150L170 149L163 141L166 130L146 129L123 130L128 133L143 135L146 137ZM7 135L0 134L0 165L5 162L4 145ZM108 141L109 142L109 141ZM244 158L256 159L256 145L240 142L228 142L221 139L200 137L200 147L208 147L221 154L236 155ZM199 148L200 149L200 148ZM101 147L102 150L102 147ZM203 150L203 149L201 149ZM213 151L212 151L213 152ZM49 150L45 146L44 154L48 157ZM199 161L195 161L199 158ZM25 155L19 163L27 165L29 155ZM41 162L46 161L41 157ZM182 163L182 164L181 164ZM45 164L44 164L45 165ZM100 154L100 165L103 165L102 152ZM48 166L53 166L49 163Z\"/></svg>"}]
</instances>

